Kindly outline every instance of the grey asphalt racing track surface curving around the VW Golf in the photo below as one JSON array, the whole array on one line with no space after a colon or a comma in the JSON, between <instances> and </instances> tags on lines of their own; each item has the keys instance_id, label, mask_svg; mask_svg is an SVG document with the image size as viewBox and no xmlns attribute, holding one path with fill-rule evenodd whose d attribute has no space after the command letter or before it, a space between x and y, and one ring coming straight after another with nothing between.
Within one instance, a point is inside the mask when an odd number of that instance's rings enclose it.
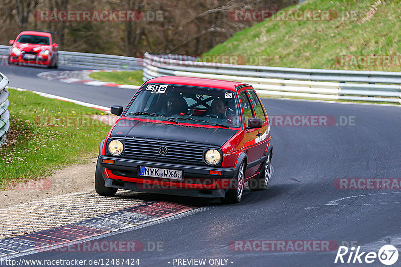
<instances>
[{"instance_id":1,"label":"grey asphalt racing track surface curving around the VW Golf","mask_svg":"<svg viewBox=\"0 0 401 267\"><path fill-rule=\"evenodd\" d=\"M0 72L11 80L11 86L97 105L124 104L133 93L126 89L63 84L36 78L42 71L46 70L0 68ZM41 260L139 258L140 266L174 266L174 258L206 258L207 261L224 258L228 259L228 266L332 266L337 265L334 264L337 249L329 252L244 252L233 251L229 244L235 240L329 240L338 245L356 242L366 251L378 252L386 243L399 250L401 190L339 190L334 181L337 178L401 178L401 108L278 99L263 99L263 104L269 116L330 115L337 122L340 116L352 116L355 123L347 126L272 126L274 172L267 190L246 191L242 202L235 205L148 194L147 199L201 208L187 216L98 239L137 240L145 244L163 242L162 251L45 251L22 257ZM138 195L133 194L133 197ZM346 197L352 198L343 199ZM335 200L341 205L327 205ZM378 259L362 265L383 266Z\"/></svg>"}]
</instances>

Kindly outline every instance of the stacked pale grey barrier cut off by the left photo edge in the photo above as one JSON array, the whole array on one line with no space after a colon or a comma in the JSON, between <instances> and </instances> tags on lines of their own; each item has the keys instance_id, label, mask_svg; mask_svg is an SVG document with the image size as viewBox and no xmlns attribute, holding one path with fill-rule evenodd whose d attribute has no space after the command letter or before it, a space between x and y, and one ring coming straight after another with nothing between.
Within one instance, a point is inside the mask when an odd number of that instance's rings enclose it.
<instances>
[{"instance_id":1,"label":"stacked pale grey barrier cut off by the left photo edge","mask_svg":"<svg viewBox=\"0 0 401 267\"><path fill-rule=\"evenodd\" d=\"M0 73L0 146L6 141L6 133L10 127L9 92L6 89L9 79Z\"/></svg>"}]
</instances>

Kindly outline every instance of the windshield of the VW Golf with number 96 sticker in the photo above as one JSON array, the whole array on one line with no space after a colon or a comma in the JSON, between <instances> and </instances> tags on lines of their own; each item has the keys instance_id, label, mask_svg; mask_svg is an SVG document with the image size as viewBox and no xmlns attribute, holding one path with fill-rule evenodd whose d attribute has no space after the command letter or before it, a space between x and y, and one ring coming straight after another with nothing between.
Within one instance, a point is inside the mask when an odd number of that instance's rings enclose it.
<instances>
[{"instance_id":1,"label":"windshield of the VW Golf with number 96 sticker","mask_svg":"<svg viewBox=\"0 0 401 267\"><path fill-rule=\"evenodd\" d=\"M154 119L154 115L179 123L240 126L235 94L223 89L148 83L127 108L125 116Z\"/></svg>"}]
</instances>

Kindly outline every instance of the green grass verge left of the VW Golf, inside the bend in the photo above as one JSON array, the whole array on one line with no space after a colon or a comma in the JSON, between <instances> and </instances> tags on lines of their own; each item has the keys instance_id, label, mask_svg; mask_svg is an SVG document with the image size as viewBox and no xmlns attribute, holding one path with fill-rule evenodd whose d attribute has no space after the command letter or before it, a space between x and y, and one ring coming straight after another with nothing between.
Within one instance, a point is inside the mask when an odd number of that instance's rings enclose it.
<instances>
[{"instance_id":1,"label":"green grass verge left of the VW Golf, inside the bend","mask_svg":"<svg viewBox=\"0 0 401 267\"><path fill-rule=\"evenodd\" d=\"M91 119L102 111L10 90L10 130L0 148L0 188L49 176L98 154L110 126Z\"/></svg>"}]
</instances>

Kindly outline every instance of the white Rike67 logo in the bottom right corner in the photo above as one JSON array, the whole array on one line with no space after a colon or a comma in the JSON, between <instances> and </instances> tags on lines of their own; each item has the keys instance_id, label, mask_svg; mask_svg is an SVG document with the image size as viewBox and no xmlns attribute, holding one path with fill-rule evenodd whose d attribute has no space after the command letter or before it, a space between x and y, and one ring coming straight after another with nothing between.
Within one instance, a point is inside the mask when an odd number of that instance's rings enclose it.
<instances>
[{"instance_id":1,"label":"white Rike67 logo in the bottom right corner","mask_svg":"<svg viewBox=\"0 0 401 267\"><path fill-rule=\"evenodd\" d=\"M347 255L349 252L349 255ZM384 265L393 265L398 260L398 250L393 245L384 245L376 252L360 252L360 246L351 247L348 249L346 246L340 246L337 251L334 263L373 263L380 260Z\"/></svg>"}]
</instances>

